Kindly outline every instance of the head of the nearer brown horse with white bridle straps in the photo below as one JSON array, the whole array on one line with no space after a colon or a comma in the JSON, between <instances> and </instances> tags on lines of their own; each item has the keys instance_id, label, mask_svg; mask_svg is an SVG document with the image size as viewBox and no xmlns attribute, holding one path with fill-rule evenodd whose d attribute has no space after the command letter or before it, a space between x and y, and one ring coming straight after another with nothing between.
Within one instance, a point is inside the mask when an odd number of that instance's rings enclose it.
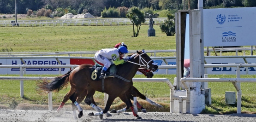
<instances>
[{"instance_id":1,"label":"head of the nearer brown horse with white bridle straps","mask_svg":"<svg viewBox=\"0 0 256 122\"><path fill-rule=\"evenodd\" d=\"M158 69L157 65L154 65L154 61L147 55L147 53L137 51L139 56L139 64L141 67L147 68L150 71L156 71Z\"/></svg>"}]
</instances>

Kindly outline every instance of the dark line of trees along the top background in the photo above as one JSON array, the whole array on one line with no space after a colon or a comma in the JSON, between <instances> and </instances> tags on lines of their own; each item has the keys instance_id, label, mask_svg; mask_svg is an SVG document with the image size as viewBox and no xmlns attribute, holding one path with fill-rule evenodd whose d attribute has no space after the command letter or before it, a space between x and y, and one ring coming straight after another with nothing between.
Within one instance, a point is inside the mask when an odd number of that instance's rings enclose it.
<instances>
[{"instance_id":1,"label":"dark line of trees along the top background","mask_svg":"<svg viewBox=\"0 0 256 122\"><path fill-rule=\"evenodd\" d=\"M15 0L0 0L0 13L14 13L14 2ZM94 16L100 16L105 7L136 6L140 9L151 7L153 10L183 10L183 2L185 2L185 9L188 9L189 5L190 9L197 9L198 0L16 0L16 2L18 14L24 14L29 9L37 11L47 6L53 12L57 8L71 8L78 14L86 10ZM206 8L253 7L256 6L256 0L203 0L203 6Z\"/></svg>"}]
</instances>

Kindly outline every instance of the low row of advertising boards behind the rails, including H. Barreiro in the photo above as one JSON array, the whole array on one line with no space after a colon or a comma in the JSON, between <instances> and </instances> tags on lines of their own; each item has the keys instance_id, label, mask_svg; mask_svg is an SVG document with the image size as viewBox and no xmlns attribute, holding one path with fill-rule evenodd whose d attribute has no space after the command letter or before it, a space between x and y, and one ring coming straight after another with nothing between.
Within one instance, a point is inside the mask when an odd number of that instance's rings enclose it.
<instances>
[{"instance_id":1,"label":"low row of advertising boards behind the rails, including H. Barreiro","mask_svg":"<svg viewBox=\"0 0 256 122\"><path fill-rule=\"evenodd\" d=\"M256 58L246 58L249 64L256 64ZM44 64L53 64L57 65L57 61L55 58L49 59L24 59L26 64L30 65L44 65ZM176 65L176 59L166 59L167 63L162 59L153 60L157 65ZM205 58L207 64L243 64L245 63L243 58ZM61 64L69 65L69 64L94 64L91 59L60 59ZM20 65L23 64L20 59L0 59L0 65ZM65 74L69 71L69 68L61 68L61 74ZM246 74L245 68L240 68L240 73L242 75ZM176 69L158 69L154 72L154 74L176 74ZM235 67L215 67L215 68L207 68L207 74L236 74ZM255 67L248 68L249 74L256 74ZM0 74L19 74L18 68L0 68ZM59 68L26 68L26 74L59 74ZM137 74L141 74L137 72Z\"/></svg>"}]
</instances>

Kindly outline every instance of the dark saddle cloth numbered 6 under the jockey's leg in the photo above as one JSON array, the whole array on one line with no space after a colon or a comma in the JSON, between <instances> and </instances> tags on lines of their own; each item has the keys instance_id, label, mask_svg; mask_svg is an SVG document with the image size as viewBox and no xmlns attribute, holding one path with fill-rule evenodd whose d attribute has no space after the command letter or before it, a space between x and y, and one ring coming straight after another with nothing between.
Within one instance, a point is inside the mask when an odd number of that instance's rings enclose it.
<instances>
[{"instance_id":1,"label":"dark saddle cloth numbered 6 under the jockey's leg","mask_svg":"<svg viewBox=\"0 0 256 122\"><path fill-rule=\"evenodd\" d=\"M101 75L101 70L103 69L104 66L100 64L95 64L92 69L91 69L91 79L92 80L99 80L99 77ZM116 65L112 64L110 67L107 69L106 76L108 77L114 77L116 74Z\"/></svg>"}]
</instances>

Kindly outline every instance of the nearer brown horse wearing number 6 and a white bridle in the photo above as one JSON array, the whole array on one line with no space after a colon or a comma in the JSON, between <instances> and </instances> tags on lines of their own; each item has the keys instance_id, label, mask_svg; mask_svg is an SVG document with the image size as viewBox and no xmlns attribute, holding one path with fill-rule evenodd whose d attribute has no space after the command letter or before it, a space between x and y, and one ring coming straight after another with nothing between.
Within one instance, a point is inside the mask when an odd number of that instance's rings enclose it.
<instances>
[{"instance_id":1,"label":"nearer brown horse wearing number 6 and a white bridle","mask_svg":"<svg viewBox=\"0 0 256 122\"><path fill-rule=\"evenodd\" d=\"M83 109L77 103L77 98L80 96L81 93L84 93L86 90L87 95L84 102L92 106L95 110L99 109L95 106L95 102L93 100L93 95L95 91L99 91L102 93L105 92L109 95L105 109L101 112L96 112L94 114L95 116L106 114L110 106L112 105L113 100L117 97L119 97L126 104L126 107L124 109L117 110L117 113L121 113L129 109L131 106L131 100L127 98L125 93L128 90L133 90L132 78L135 76L139 67L156 71L158 69L158 66L152 63L152 59L146 53L141 53L137 51L137 55L131 57L130 61L122 65L117 65L116 77L106 78L104 82L103 80L95 81L91 79L91 68L93 65L82 64L79 67L72 70L71 72L66 73L66 75L62 76L61 78L64 78L65 81L58 81L58 79L53 79L50 82L38 82L37 90L40 93L60 91L61 88L65 87L68 84L68 82L70 82L70 85L72 88L74 88L75 92L69 98L80 111L78 114L78 118L83 116ZM118 78L118 76L120 76L121 78Z\"/></svg>"}]
</instances>

